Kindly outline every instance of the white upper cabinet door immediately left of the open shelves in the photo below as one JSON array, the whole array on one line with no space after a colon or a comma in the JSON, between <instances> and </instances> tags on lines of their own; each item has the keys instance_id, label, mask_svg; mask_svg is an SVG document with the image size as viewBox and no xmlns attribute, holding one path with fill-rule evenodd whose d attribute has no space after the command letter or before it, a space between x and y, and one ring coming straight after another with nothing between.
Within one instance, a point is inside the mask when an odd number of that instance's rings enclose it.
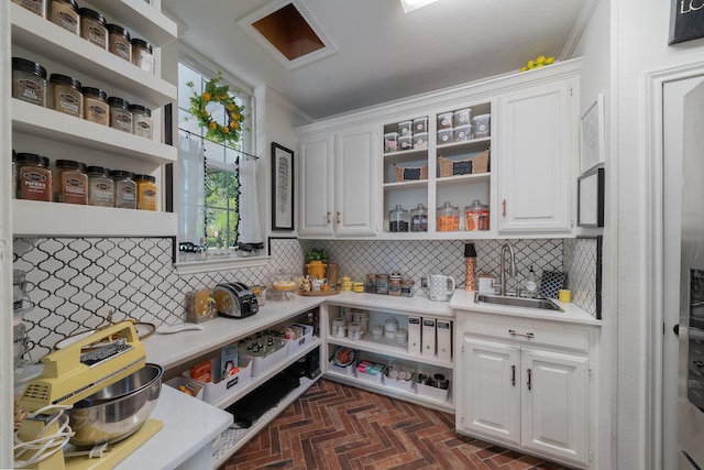
<instances>
[{"instance_id":1,"label":"white upper cabinet door immediately left of the open shelves","mask_svg":"<svg viewBox=\"0 0 704 470\"><path fill-rule=\"evenodd\" d=\"M338 133L336 149L336 233L374 234L373 130Z\"/></svg>"}]
</instances>

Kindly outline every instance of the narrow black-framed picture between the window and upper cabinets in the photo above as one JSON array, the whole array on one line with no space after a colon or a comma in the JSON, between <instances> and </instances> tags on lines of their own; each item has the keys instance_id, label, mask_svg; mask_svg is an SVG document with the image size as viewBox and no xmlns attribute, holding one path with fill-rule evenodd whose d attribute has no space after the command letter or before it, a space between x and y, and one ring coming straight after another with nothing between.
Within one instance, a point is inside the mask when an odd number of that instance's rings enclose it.
<instances>
[{"instance_id":1,"label":"narrow black-framed picture between the window and upper cabinets","mask_svg":"<svg viewBox=\"0 0 704 470\"><path fill-rule=\"evenodd\" d=\"M272 142L272 230L294 230L294 152Z\"/></svg>"}]
</instances>

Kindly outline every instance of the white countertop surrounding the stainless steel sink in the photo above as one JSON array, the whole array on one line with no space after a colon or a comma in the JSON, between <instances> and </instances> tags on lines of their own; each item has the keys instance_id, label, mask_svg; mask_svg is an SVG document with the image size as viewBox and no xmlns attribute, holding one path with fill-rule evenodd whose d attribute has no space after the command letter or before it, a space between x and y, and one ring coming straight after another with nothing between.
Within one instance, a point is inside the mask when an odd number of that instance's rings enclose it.
<instances>
[{"instance_id":1,"label":"white countertop surrounding the stainless steel sink","mask_svg":"<svg viewBox=\"0 0 704 470\"><path fill-rule=\"evenodd\" d=\"M573 324L602 326L601 320L597 320L572 303L563 303L552 299L552 302L559 305L564 311L542 310L538 308L512 307L508 305L477 304L474 302L474 292L455 291L454 294L452 294L452 299L450 299L450 307L455 310L480 311L537 320L568 321Z\"/></svg>"}]
</instances>

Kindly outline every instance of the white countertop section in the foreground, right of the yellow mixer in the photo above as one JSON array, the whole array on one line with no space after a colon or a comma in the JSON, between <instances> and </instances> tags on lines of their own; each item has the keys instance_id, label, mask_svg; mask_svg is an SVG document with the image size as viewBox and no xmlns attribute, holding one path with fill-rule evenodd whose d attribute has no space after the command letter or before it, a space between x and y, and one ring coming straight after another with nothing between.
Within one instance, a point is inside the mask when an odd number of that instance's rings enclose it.
<instances>
[{"instance_id":1,"label":"white countertop section in the foreground, right of the yellow mixer","mask_svg":"<svg viewBox=\"0 0 704 470\"><path fill-rule=\"evenodd\" d=\"M232 415L162 384L151 418L164 427L116 470L174 469L200 451L233 422Z\"/></svg>"}]
</instances>

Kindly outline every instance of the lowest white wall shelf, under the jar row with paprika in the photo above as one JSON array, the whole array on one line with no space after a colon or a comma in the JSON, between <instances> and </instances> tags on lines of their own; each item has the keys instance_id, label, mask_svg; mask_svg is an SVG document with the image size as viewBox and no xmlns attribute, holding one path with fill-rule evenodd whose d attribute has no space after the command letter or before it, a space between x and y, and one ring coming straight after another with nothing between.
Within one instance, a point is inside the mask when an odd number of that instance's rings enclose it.
<instances>
[{"instance_id":1,"label":"lowest white wall shelf, under the jar row with paprika","mask_svg":"<svg viewBox=\"0 0 704 470\"><path fill-rule=\"evenodd\" d=\"M14 237L173 237L174 212L12 200Z\"/></svg>"}]
</instances>

